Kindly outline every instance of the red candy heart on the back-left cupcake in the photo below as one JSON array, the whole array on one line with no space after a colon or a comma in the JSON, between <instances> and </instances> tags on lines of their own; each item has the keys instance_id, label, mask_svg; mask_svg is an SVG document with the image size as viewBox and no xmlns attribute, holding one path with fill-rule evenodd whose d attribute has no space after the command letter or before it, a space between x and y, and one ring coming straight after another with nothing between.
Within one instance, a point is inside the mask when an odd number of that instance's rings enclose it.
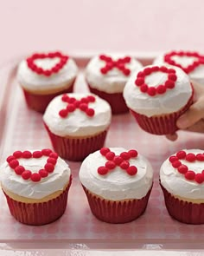
<instances>
[{"instance_id":1,"label":"red candy heart on the back-left cupcake","mask_svg":"<svg viewBox=\"0 0 204 256\"><path fill-rule=\"evenodd\" d=\"M35 63L35 60L46 59L46 58L48 59L58 58L59 62L57 62L54 65L54 67L51 69L42 69L41 67L38 67L37 64ZM68 60L68 56L62 55L61 52L50 52L48 54L35 53L29 58L27 58L26 61L29 69L33 70L38 75L50 76L55 73L58 73L65 66L65 64L67 63L67 60Z\"/></svg>"}]
</instances>

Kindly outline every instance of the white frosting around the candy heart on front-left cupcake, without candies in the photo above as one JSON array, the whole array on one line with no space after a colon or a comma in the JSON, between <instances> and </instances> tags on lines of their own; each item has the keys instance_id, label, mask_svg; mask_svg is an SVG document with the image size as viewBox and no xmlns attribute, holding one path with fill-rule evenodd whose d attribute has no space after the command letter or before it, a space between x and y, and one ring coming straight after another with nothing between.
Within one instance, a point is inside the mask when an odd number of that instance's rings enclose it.
<instances>
[{"instance_id":1,"label":"white frosting around the candy heart on front-left cupcake, without candies","mask_svg":"<svg viewBox=\"0 0 204 256\"><path fill-rule=\"evenodd\" d=\"M32 173L38 172L44 167L48 156L42 156L39 159L21 159L18 161L20 165L30 170ZM63 190L67 182L70 180L70 168L67 163L60 157L54 167L54 172L48 174L48 177L41 178L41 181L34 182L24 180L21 175L17 175L8 162L5 161L0 167L0 180L4 188L8 191L22 197L30 199L42 199L43 197L53 194L56 191Z\"/></svg>"}]
</instances>

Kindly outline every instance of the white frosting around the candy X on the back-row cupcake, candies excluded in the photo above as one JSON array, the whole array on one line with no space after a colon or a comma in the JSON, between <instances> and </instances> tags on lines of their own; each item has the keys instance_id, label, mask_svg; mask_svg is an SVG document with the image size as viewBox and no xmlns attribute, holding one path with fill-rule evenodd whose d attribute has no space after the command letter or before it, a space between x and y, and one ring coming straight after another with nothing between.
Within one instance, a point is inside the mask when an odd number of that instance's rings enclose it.
<instances>
[{"instance_id":1,"label":"white frosting around the candy X on the back-row cupcake, candies excluded","mask_svg":"<svg viewBox=\"0 0 204 256\"><path fill-rule=\"evenodd\" d=\"M118 60L123 58L122 55L110 55L112 60ZM100 69L105 67L105 61L100 60L99 56L95 56L88 63L85 71L86 81L94 88L104 91L108 94L122 93L124 85L129 79L130 75L124 75L122 71L117 68L113 68L108 71L105 75L101 73ZM142 64L136 59L131 58L130 63L126 63L125 67L131 70L131 73L137 69L142 68Z\"/></svg>"}]
</instances>

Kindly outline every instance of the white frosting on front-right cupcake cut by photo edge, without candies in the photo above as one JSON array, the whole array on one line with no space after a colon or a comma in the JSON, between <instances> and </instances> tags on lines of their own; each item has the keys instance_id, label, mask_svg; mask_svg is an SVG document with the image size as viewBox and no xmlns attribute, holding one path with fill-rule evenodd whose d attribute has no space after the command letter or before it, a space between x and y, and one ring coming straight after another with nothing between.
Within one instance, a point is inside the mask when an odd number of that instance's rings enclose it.
<instances>
[{"instance_id":1,"label":"white frosting on front-right cupcake cut by photo edge, without candies","mask_svg":"<svg viewBox=\"0 0 204 256\"><path fill-rule=\"evenodd\" d=\"M184 151L187 154L203 153L200 149L184 149ZM188 166L189 170L193 170L195 174L201 173L204 169L204 161L181 161L184 165ZM170 194L192 200L204 199L204 183L198 184L195 181L186 180L183 174L180 174L176 168L172 167L169 158L163 162L160 168L160 180L163 187L165 187Z\"/></svg>"}]
</instances>

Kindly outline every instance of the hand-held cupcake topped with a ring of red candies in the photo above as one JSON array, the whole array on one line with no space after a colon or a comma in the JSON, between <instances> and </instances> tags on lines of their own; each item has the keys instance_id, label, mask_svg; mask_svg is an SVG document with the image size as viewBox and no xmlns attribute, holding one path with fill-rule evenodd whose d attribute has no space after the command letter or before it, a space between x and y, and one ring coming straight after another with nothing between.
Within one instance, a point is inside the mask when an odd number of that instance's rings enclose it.
<instances>
[{"instance_id":1,"label":"hand-held cupcake topped with a ring of red candies","mask_svg":"<svg viewBox=\"0 0 204 256\"><path fill-rule=\"evenodd\" d=\"M154 135L173 134L176 120L193 102L193 88L182 69L146 66L131 75L124 100L138 125Z\"/></svg>"}]
</instances>

